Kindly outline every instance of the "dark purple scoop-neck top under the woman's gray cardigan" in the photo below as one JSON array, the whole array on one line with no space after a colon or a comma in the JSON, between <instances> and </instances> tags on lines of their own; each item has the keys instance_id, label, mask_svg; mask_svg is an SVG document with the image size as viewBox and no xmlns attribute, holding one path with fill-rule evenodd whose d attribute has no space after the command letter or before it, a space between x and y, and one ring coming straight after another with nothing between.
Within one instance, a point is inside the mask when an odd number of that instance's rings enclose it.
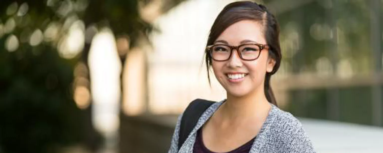
<instances>
[{"instance_id":1,"label":"dark purple scoop-neck top under the woman's gray cardigan","mask_svg":"<svg viewBox=\"0 0 383 153\"><path fill-rule=\"evenodd\" d=\"M202 129L202 128L201 128ZM197 137L195 139L195 143L194 143L194 146L193 146L193 153L216 153L216 152L213 152L213 151L210 151L208 148L206 148L206 146L203 144L203 141L202 141L202 130L199 129L197 131ZM252 138L249 142L245 143L244 145L232 150L232 151L229 151L229 152L226 152L226 153L249 153L250 151L250 148L254 142L254 139L255 138Z\"/></svg>"}]
</instances>

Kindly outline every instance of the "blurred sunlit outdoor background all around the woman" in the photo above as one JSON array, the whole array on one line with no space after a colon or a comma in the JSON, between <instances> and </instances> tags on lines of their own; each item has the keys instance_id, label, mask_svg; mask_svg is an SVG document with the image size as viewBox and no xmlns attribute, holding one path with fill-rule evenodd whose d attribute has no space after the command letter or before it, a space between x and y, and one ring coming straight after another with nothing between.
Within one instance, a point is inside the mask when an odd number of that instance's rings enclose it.
<instances>
[{"instance_id":1,"label":"blurred sunlit outdoor background all around the woman","mask_svg":"<svg viewBox=\"0 0 383 153\"><path fill-rule=\"evenodd\" d=\"M190 101L226 97L204 48L234 1L2 0L0 153L166 152ZM281 26L278 106L318 152L382 152L383 0L257 2Z\"/></svg>"}]
</instances>

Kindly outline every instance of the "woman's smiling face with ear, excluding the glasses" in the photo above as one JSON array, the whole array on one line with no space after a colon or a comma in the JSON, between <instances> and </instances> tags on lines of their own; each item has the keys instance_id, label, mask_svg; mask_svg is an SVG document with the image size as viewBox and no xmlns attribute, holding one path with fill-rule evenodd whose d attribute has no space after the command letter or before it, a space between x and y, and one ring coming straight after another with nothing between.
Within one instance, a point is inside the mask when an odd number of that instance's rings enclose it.
<instances>
[{"instance_id":1,"label":"woman's smiling face with ear, excluding the glasses","mask_svg":"<svg viewBox=\"0 0 383 153\"><path fill-rule=\"evenodd\" d=\"M257 21L242 20L225 29L214 45L243 46L243 44L252 43L267 44L264 26ZM214 75L225 88L228 96L234 97L255 94L255 92L263 94L266 72L272 72L274 65L275 60L269 58L268 49L260 50L260 55L255 60L241 59L236 49L233 49L229 60L212 60Z\"/></svg>"}]
</instances>

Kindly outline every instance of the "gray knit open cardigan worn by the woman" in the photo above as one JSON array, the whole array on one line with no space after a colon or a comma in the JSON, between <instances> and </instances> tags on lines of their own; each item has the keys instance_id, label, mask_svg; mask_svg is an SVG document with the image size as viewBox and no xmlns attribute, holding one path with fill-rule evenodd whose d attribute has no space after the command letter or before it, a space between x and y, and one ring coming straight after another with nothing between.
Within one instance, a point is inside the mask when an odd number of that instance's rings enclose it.
<instances>
[{"instance_id":1,"label":"gray knit open cardigan worn by the woman","mask_svg":"<svg viewBox=\"0 0 383 153\"><path fill-rule=\"evenodd\" d=\"M178 133L180 130L180 120L178 117L175 126L172 142L168 153L193 153L197 130L214 114L221 106L221 102L212 104L198 119L196 126L191 130L188 138L178 149ZM272 105L264 124L250 149L250 153L314 153L308 135L304 132L302 124L290 113L280 110Z\"/></svg>"}]
</instances>

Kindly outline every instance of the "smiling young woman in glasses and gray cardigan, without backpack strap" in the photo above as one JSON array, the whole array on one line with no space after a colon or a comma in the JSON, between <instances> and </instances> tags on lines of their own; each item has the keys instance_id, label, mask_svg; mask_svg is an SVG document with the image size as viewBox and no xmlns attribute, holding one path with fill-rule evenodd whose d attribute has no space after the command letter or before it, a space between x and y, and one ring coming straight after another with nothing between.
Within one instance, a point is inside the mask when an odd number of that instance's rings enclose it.
<instances>
[{"instance_id":1,"label":"smiling young woman in glasses and gray cardigan, without backpack strap","mask_svg":"<svg viewBox=\"0 0 383 153\"><path fill-rule=\"evenodd\" d=\"M227 98L198 116L183 143L180 124L188 118L181 115L169 153L314 152L301 123L277 107L270 78L280 62L279 26L265 6L227 5L214 21L206 47L207 68L213 69Z\"/></svg>"}]
</instances>

